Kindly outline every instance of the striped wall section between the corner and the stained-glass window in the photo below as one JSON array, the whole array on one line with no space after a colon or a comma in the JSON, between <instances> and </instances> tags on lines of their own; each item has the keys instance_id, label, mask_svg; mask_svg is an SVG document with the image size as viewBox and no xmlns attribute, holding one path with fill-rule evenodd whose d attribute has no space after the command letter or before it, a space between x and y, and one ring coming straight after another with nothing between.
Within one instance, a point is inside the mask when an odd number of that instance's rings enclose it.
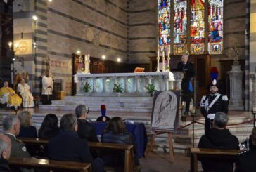
<instances>
[{"instance_id":1,"label":"striped wall section between the corner and the stained-glass window","mask_svg":"<svg viewBox=\"0 0 256 172\"><path fill-rule=\"evenodd\" d=\"M157 49L156 0L129 0L128 56L131 63L148 63Z\"/></svg>"}]
</instances>

